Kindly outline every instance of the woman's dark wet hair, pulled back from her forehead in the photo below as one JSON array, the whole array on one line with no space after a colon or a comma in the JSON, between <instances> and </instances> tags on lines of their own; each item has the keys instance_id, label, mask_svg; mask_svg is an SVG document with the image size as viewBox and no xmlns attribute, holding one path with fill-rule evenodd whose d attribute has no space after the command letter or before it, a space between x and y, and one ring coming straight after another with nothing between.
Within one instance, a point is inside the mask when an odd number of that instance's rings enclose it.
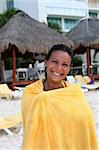
<instances>
[{"instance_id":1,"label":"woman's dark wet hair, pulled back from her forehead","mask_svg":"<svg viewBox=\"0 0 99 150\"><path fill-rule=\"evenodd\" d=\"M52 53L54 53L55 51L66 52L71 57L71 65L72 65L73 50L64 44L53 45L53 47L48 51L48 54L45 59L48 61ZM45 78L47 78L46 68L45 68Z\"/></svg>"}]
</instances>

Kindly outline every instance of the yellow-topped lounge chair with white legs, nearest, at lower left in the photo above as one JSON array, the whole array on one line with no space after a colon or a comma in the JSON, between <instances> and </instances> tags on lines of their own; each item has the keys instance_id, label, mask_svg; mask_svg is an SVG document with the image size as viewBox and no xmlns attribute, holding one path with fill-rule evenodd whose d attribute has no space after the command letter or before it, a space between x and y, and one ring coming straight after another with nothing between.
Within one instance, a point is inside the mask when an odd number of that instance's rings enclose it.
<instances>
[{"instance_id":1,"label":"yellow-topped lounge chair with white legs, nearest, at lower left","mask_svg":"<svg viewBox=\"0 0 99 150\"><path fill-rule=\"evenodd\" d=\"M16 127L20 123L22 123L21 112L10 115L5 118L0 118L0 130L4 130L7 134L14 135L10 128ZM21 132L22 129L18 132L18 134L20 134Z\"/></svg>"}]
</instances>

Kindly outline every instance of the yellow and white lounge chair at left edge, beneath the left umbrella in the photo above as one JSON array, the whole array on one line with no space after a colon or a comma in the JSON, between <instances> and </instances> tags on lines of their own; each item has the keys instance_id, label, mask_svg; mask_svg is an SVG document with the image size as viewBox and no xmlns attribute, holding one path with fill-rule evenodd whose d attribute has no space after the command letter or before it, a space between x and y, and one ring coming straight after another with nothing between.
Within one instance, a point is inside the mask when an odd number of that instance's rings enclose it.
<instances>
[{"instance_id":1,"label":"yellow and white lounge chair at left edge, beneath the left umbrella","mask_svg":"<svg viewBox=\"0 0 99 150\"><path fill-rule=\"evenodd\" d=\"M0 84L0 97L6 99L21 98L23 92L19 90L12 91L6 83Z\"/></svg>"}]
</instances>

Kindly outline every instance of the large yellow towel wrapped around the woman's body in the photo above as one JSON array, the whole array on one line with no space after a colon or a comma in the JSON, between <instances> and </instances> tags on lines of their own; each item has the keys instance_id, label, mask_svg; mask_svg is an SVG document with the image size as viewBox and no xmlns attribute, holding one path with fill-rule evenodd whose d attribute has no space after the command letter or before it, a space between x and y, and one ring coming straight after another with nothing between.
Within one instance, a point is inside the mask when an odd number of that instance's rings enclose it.
<instances>
[{"instance_id":1,"label":"large yellow towel wrapped around the woman's body","mask_svg":"<svg viewBox=\"0 0 99 150\"><path fill-rule=\"evenodd\" d=\"M37 81L23 95L23 150L97 150L93 114L79 85L43 91Z\"/></svg>"}]
</instances>

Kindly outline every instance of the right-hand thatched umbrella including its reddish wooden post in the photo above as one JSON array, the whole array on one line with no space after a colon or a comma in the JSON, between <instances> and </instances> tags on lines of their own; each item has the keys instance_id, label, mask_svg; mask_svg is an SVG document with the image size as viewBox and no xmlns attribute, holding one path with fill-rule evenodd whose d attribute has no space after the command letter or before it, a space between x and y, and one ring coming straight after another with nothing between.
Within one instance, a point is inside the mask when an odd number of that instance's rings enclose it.
<instances>
[{"instance_id":1,"label":"right-hand thatched umbrella including its reddish wooden post","mask_svg":"<svg viewBox=\"0 0 99 150\"><path fill-rule=\"evenodd\" d=\"M75 53L85 53L87 56L88 75L91 76L91 49L99 52L99 19L86 18L72 28L66 36L74 42ZM98 76L93 76L98 78Z\"/></svg>"}]
</instances>

